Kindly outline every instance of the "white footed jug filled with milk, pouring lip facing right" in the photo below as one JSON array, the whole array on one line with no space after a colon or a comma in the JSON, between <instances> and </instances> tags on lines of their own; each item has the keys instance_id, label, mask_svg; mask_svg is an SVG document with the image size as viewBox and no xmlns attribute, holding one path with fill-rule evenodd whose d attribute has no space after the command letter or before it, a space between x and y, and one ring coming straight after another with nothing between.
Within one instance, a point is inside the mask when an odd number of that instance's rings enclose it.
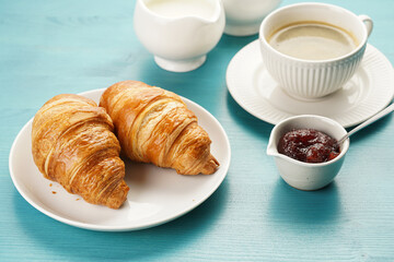
<instances>
[{"instance_id":1,"label":"white footed jug filled with milk, pouring lip facing right","mask_svg":"<svg viewBox=\"0 0 394 262\"><path fill-rule=\"evenodd\" d=\"M224 29L221 0L137 0L134 25L157 64L173 72L200 67Z\"/></svg>"}]
</instances>

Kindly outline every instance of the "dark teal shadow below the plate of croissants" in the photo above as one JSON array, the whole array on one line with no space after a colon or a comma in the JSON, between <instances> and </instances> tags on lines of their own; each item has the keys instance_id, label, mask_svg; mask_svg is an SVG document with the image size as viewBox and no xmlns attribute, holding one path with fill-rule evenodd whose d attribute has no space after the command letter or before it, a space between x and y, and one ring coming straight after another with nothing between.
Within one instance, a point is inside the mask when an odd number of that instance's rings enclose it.
<instances>
[{"instance_id":1,"label":"dark teal shadow below the plate of croissants","mask_svg":"<svg viewBox=\"0 0 394 262\"><path fill-rule=\"evenodd\" d=\"M224 180L207 201L175 221L136 231L91 231L61 224L34 210L16 191L14 212L26 238L54 258L143 261L179 253L179 249L202 241L225 206L228 187Z\"/></svg>"}]
</instances>

